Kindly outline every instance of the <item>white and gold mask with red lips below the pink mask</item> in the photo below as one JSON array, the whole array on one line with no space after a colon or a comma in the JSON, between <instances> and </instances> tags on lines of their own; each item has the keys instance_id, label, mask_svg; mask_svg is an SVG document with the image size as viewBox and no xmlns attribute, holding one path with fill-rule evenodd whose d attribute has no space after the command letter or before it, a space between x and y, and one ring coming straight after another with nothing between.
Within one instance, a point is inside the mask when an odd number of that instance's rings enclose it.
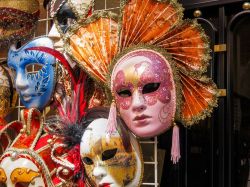
<instances>
[{"instance_id":1,"label":"white and gold mask with red lips below the pink mask","mask_svg":"<svg viewBox=\"0 0 250 187\"><path fill-rule=\"evenodd\" d=\"M126 152L117 131L107 137L107 123L105 118L95 119L82 136L80 154L91 186L140 186L143 162L138 142L131 135L132 150Z\"/></svg>"}]
</instances>

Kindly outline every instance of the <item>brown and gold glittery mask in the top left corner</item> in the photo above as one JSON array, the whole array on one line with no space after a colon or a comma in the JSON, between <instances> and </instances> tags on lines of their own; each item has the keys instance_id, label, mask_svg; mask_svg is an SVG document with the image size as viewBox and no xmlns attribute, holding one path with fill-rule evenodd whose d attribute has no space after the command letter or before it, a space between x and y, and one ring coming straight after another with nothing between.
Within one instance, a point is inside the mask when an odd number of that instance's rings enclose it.
<instances>
[{"instance_id":1,"label":"brown and gold glittery mask in the top left corner","mask_svg":"<svg viewBox=\"0 0 250 187\"><path fill-rule=\"evenodd\" d=\"M28 39L39 18L39 1L1 0L0 16L0 46Z\"/></svg>"}]
</instances>

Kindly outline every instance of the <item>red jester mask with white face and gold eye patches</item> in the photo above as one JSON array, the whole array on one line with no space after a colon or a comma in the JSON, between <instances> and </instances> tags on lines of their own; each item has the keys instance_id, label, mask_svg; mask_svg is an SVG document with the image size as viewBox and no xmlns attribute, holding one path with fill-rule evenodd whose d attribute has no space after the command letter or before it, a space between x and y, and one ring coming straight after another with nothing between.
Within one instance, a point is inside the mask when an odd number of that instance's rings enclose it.
<instances>
[{"instance_id":1,"label":"red jester mask with white face and gold eye patches","mask_svg":"<svg viewBox=\"0 0 250 187\"><path fill-rule=\"evenodd\" d=\"M11 124L19 131L22 127L22 130L0 157L0 186L57 186L60 180L54 179L59 166L51 158L48 140L52 140L52 136L43 134L40 111L34 108L21 110L21 119L22 122Z\"/></svg>"}]
</instances>

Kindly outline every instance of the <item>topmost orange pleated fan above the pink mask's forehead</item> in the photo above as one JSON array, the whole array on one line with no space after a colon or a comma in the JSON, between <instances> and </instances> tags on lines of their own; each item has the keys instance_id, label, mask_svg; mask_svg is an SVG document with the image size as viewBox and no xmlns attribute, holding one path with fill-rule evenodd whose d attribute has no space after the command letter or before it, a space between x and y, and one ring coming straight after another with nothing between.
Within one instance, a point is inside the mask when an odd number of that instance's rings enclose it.
<instances>
[{"instance_id":1,"label":"topmost orange pleated fan above the pink mask's forehead","mask_svg":"<svg viewBox=\"0 0 250 187\"><path fill-rule=\"evenodd\" d=\"M120 50L161 37L182 18L173 1L131 0L124 7Z\"/></svg>"}]
</instances>

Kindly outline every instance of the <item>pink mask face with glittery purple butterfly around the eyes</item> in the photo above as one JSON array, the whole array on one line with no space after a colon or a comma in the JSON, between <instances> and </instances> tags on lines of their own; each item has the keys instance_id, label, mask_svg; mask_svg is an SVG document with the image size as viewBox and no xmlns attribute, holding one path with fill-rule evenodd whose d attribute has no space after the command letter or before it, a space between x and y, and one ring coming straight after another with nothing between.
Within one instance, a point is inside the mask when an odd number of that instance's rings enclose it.
<instances>
[{"instance_id":1,"label":"pink mask face with glittery purple butterfly around the eyes","mask_svg":"<svg viewBox=\"0 0 250 187\"><path fill-rule=\"evenodd\" d=\"M157 136L171 127L176 88L169 61L160 53L137 49L122 56L111 75L116 106L138 137Z\"/></svg>"}]
</instances>

